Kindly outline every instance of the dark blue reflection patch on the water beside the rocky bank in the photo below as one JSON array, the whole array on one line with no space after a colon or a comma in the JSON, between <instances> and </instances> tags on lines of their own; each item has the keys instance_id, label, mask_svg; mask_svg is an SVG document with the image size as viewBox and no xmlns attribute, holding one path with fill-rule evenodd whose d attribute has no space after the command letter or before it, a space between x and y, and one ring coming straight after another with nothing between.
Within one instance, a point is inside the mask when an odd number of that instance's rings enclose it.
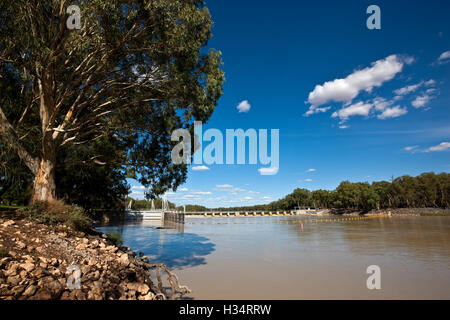
<instances>
[{"instance_id":1,"label":"dark blue reflection patch on the water beside the rocky bank","mask_svg":"<svg viewBox=\"0 0 450 320\"><path fill-rule=\"evenodd\" d=\"M206 264L205 257L215 250L208 238L185 233L184 224L180 223L142 220L98 229L105 233L118 231L126 246L142 252L151 262L165 263L170 269Z\"/></svg>"}]
</instances>

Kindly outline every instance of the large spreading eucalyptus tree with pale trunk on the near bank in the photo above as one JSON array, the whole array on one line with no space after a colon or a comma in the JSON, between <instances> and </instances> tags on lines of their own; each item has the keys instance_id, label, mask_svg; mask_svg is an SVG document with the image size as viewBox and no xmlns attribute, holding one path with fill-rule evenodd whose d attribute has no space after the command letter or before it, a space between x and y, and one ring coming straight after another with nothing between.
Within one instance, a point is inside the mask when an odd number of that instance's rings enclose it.
<instances>
[{"instance_id":1,"label":"large spreading eucalyptus tree with pale trunk on the near bank","mask_svg":"<svg viewBox=\"0 0 450 320\"><path fill-rule=\"evenodd\" d=\"M149 196L176 189L186 166L171 162L171 132L206 122L222 93L211 27L202 0L0 2L0 138L33 175L31 200L57 198L63 148L104 137Z\"/></svg>"}]
</instances>

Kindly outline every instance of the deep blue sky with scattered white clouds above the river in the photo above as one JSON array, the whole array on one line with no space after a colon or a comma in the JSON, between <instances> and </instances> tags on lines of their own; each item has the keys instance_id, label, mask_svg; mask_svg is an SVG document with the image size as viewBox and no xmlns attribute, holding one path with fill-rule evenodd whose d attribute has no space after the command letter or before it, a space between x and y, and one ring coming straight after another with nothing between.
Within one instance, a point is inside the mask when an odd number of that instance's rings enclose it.
<instances>
[{"instance_id":1,"label":"deep blue sky with scattered white clouds above the river","mask_svg":"<svg viewBox=\"0 0 450 320\"><path fill-rule=\"evenodd\" d=\"M366 27L371 4L381 9L381 30ZM276 175L260 175L261 165L191 166L170 201L253 205L297 187L449 171L450 2L207 6L209 46L222 51L227 80L204 130L279 129L280 165ZM237 108L242 101L246 112ZM129 182L131 196L142 198L142 187Z\"/></svg>"}]
</instances>

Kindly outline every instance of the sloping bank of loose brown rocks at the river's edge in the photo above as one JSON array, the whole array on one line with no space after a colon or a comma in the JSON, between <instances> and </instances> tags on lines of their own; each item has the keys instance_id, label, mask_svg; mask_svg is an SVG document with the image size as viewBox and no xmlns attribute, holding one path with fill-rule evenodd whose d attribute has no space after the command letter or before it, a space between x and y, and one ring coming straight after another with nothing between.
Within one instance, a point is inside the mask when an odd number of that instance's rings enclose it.
<instances>
[{"instance_id":1,"label":"sloping bank of loose brown rocks at the river's edge","mask_svg":"<svg viewBox=\"0 0 450 320\"><path fill-rule=\"evenodd\" d=\"M150 264L105 238L0 218L0 299L153 300L189 292L164 265ZM168 276L170 295L161 271Z\"/></svg>"}]
</instances>

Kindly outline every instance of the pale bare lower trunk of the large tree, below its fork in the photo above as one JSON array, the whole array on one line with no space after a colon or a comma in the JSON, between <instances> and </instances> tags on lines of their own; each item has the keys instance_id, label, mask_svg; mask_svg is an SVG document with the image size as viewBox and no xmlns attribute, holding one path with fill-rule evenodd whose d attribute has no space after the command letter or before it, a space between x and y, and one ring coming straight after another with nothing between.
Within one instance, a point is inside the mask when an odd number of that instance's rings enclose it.
<instances>
[{"instance_id":1,"label":"pale bare lower trunk of the large tree, below its fork","mask_svg":"<svg viewBox=\"0 0 450 320\"><path fill-rule=\"evenodd\" d=\"M31 203L36 201L56 201L55 162L52 160L41 160L31 196Z\"/></svg>"}]
</instances>

